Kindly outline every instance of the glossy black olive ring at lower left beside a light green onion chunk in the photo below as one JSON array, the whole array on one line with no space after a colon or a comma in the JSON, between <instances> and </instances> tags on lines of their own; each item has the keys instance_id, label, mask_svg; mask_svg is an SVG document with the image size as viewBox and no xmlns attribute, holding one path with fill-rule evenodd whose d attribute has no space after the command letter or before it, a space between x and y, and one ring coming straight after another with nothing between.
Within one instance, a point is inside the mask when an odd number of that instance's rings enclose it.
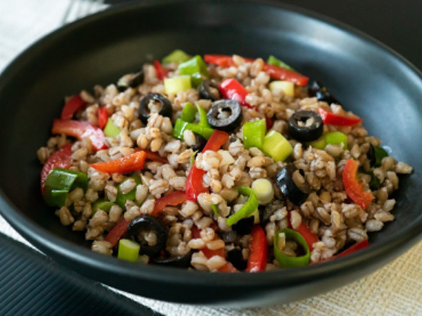
<instances>
[{"instance_id":1,"label":"glossy black olive ring at lower left beside a light green onion chunk","mask_svg":"<svg viewBox=\"0 0 422 316\"><path fill-rule=\"evenodd\" d=\"M155 242L155 244L152 246L150 246L143 237L143 234L148 232L154 232L157 236L157 242ZM158 254L158 252L160 252L162 249L165 249L167 244L168 229L167 226L158 218L149 215L141 215L129 223L127 228L127 235L129 239L132 239L141 245L139 254L153 256Z\"/></svg>"}]
</instances>

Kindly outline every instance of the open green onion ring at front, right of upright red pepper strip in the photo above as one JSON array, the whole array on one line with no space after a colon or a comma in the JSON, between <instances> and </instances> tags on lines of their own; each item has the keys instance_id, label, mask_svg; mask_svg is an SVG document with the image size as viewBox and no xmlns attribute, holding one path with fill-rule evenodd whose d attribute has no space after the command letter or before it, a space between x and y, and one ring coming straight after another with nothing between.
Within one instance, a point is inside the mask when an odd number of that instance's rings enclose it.
<instances>
[{"instance_id":1,"label":"open green onion ring at front, right of upright red pepper strip","mask_svg":"<svg viewBox=\"0 0 422 316\"><path fill-rule=\"evenodd\" d=\"M301 246L305 254L298 257L287 256L286 254L283 254L279 248L279 235L281 234L285 235L286 240L296 242L298 246ZM276 235L274 235L274 256L279 262L281 268L302 267L304 265L309 265L309 246L307 245L305 238L303 238L299 232L284 228L276 232Z\"/></svg>"}]
</instances>

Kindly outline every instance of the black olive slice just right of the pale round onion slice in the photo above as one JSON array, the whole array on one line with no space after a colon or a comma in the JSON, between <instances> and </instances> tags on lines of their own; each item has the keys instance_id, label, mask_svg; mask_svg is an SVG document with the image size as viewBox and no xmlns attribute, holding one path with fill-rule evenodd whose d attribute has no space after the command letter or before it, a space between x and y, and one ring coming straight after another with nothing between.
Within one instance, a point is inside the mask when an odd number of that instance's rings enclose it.
<instances>
[{"instance_id":1,"label":"black olive slice just right of the pale round onion slice","mask_svg":"<svg viewBox=\"0 0 422 316\"><path fill-rule=\"evenodd\" d=\"M283 195L286 195L293 204L300 206L307 199L311 188L306 181L304 183L295 182L296 171L300 172L293 164L288 164L276 174L275 180Z\"/></svg>"}]
</instances>

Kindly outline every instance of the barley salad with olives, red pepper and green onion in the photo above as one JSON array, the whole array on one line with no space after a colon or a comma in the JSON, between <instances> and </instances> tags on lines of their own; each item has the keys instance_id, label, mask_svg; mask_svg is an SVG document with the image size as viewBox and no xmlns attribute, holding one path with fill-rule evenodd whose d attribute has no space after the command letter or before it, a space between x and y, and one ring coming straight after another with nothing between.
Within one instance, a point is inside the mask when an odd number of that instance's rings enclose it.
<instances>
[{"instance_id":1,"label":"barley salad with olives, red pepper and green onion","mask_svg":"<svg viewBox=\"0 0 422 316\"><path fill-rule=\"evenodd\" d=\"M176 50L65 98L41 192L91 249L220 272L351 254L394 220L397 162L318 81L274 56Z\"/></svg>"}]
</instances>

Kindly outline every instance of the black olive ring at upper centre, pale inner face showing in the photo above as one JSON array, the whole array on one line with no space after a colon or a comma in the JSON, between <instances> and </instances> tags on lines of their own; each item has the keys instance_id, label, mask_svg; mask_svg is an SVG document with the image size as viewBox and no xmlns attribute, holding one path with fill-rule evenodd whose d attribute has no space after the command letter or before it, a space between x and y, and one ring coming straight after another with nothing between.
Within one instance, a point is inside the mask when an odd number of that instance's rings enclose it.
<instances>
[{"instance_id":1,"label":"black olive ring at upper centre, pale inner face showing","mask_svg":"<svg viewBox=\"0 0 422 316\"><path fill-rule=\"evenodd\" d=\"M207 113L210 125L221 131L234 131L242 122L243 112L236 100L220 100L215 102Z\"/></svg>"}]
</instances>

